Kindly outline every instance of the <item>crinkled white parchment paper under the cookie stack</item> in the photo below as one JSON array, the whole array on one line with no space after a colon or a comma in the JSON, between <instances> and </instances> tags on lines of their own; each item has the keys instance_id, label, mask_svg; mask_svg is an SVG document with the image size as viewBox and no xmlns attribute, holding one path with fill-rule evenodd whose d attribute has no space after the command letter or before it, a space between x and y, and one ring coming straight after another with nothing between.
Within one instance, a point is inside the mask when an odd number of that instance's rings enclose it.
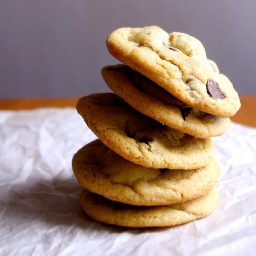
<instances>
[{"instance_id":1,"label":"crinkled white parchment paper under the cookie stack","mask_svg":"<svg viewBox=\"0 0 256 256\"><path fill-rule=\"evenodd\" d=\"M0 111L1 255L256 255L256 128L213 138L220 202L161 229L94 222L78 203L72 155L96 137L73 108Z\"/></svg>"}]
</instances>

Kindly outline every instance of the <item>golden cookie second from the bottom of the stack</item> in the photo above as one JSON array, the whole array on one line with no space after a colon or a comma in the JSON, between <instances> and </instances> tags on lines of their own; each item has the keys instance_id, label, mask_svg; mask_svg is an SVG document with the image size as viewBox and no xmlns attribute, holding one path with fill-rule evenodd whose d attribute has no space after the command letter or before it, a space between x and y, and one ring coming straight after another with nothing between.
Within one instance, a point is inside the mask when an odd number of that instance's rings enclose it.
<instances>
[{"instance_id":1,"label":"golden cookie second from the bottom of the stack","mask_svg":"<svg viewBox=\"0 0 256 256\"><path fill-rule=\"evenodd\" d=\"M81 148L72 168L83 188L132 205L186 202L211 190L219 176L214 159L195 170L147 168L125 160L100 140Z\"/></svg>"}]
</instances>

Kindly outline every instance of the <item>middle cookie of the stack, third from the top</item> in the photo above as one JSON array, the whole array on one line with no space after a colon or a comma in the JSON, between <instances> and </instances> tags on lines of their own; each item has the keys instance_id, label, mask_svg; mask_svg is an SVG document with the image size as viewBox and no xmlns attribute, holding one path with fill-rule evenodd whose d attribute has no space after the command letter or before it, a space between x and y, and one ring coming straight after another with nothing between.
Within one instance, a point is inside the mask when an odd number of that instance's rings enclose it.
<instances>
[{"instance_id":1,"label":"middle cookie of the stack, third from the top","mask_svg":"<svg viewBox=\"0 0 256 256\"><path fill-rule=\"evenodd\" d=\"M131 108L116 94L81 98L77 111L94 134L123 158L151 168L195 169L214 154L210 138L169 128Z\"/></svg>"}]
</instances>

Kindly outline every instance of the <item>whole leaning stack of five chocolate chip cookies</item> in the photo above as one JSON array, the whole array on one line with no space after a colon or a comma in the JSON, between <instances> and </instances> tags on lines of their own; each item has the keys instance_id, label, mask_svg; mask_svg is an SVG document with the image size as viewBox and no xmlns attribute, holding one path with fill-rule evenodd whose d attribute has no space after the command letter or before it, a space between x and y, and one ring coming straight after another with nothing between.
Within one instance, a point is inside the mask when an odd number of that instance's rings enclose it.
<instances>
[{"instance_id":1,"label":"whole leaning stack of five chocolate chip cookies","mask_svg":"<svg viewBox=\"0 0 256 256\"><path fill-rule=\"evenodd\" d=\"M219 166L209 137L240 108L229 79L201 42L160 27L120 28L107 47L123 62L102 69L113 93L81 98L77 111L99 140L73 157L80 203L99 222L172 226L209 215Z\"/></svg>"}]
</instances>

